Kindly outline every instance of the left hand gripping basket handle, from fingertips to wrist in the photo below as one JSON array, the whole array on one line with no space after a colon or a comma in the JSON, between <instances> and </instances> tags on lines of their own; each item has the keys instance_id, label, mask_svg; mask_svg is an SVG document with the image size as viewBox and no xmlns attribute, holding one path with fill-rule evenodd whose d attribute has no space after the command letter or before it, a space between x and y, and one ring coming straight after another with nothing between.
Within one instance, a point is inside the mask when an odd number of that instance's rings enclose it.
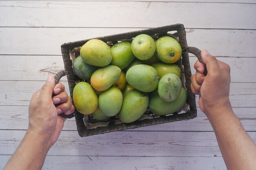
<instances>
[{"instance_id":1,"label":"left hand gripping basket handle, from fingertips to wrist","mask_svg":"<svg viewBox=\"0 0 256 170\"><path fill-rule=\"evenodd\" d=\"M52 98L52 93L56 94ZM60 104L57 107L54 104ZM66 118L60 113L69 115L74 112L72 100L61 83L55 85L54 77L49 76L41 89L35 92L29 105L28 131L38 134L52 146L58 139Z\"/></svg>"}]
</instances>

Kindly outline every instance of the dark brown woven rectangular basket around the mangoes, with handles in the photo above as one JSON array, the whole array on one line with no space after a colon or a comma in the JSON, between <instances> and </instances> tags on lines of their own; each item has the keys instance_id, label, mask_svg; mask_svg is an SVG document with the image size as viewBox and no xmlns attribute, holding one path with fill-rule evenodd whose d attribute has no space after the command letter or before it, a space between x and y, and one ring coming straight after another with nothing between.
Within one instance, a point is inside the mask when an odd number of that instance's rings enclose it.
<instances>
[{"instance_id":1,"label":"dark brown woven rectangular basket around the mangoes, with handles","mask_svg":"<svg viewBox=\"0 0 256 170\"><path fill-rule=\"evenodd\" d=\"M193 119L197 116L196 104L195 104L195 95L191 92L190 88L190 63L189 63L189 52L194 54L200 61L202 61L200 56L200 50L194 47L187 46L186 43L186 31L183 24L174 24L168 26L162 26L157 28L150 28L141 31L133 31L128 33L121 33L116 35L96 37L92 39L100 39L106 42L109 46L116 44L120 41L129 41L131 42L134 37L139 34L147 34L157 39L162 36L170 36L177 41L179 41L182 47L182 57L177 62L177 65L182 70L182 86L187 91L187 100L186 104L177 112L171 113L167 116L156 116L149 109L144 113L141 118L132 123L123 123L119 120L118 114L112 116L110 119L105 121L97 121L91 115L83 115L79 113L76 109L75 112L69 117L75 117L76 126L78 133L81 137L97 135L101 133L108 133L113 131L121 131L125 129L134 129L142 126L150 126L154 124L162 124L166 122L174 122L186 119ZM84 81L79 79L73 72L72 62L74 59L79 56L79 51L81 46L85 44L90 39L85 39L81 41L69 42L61 45L61 52L63 56L65 71L58 74L58 80L61 76L67 75L67 81L70 88L70 96L73 97L73 89L77 82ZM61 75L62 74L62 75ZM88 96L90 97L90 96ZM72 101L73 102L73 101ZM74 103L73 103L74 104Z\"/></svg>"}]
</instances>

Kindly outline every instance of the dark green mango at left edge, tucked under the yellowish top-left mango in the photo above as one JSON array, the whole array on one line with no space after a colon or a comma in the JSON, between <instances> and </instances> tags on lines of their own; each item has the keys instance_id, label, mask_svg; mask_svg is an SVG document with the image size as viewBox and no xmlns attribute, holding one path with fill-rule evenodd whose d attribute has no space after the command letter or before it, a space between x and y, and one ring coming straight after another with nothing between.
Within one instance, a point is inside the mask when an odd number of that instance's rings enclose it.
<instances>
[{"instance_id":1,"label":"dark green mango at left edge, tucked under the yellowish top-left mango","mask_svg":"<svg viewBox=\"0 0 256 170\"><path fill-rule=\"evenodd\" d=\"M97 69L98 67L85 63L81 56L76 57L73 63L74 74L83 80L90 80Z\"/></svg>"}]
</instances>

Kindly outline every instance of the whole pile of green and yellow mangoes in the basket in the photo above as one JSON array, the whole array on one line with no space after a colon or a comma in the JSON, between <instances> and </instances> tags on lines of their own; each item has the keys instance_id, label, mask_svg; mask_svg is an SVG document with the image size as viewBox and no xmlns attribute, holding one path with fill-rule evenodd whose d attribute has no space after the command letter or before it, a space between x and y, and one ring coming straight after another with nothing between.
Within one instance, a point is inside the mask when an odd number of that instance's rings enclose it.
<instances>
[{"instance_id":1,"label":"whole pile of green and yellow mangoes in the basket","mask_svg":"<svg viewBox=\"0 0 256 170\"><path fill-rule=\"evenodd\" d=\"M107 120L118 114L124 123L138 120L149 108L157 116L178 111L186 102L179 42L169 36L141 34L132 42L111 47L99 39L87 41L73 70L85 80L76 84L73 101L82 114Z\"/></svg>"}]
</instances>

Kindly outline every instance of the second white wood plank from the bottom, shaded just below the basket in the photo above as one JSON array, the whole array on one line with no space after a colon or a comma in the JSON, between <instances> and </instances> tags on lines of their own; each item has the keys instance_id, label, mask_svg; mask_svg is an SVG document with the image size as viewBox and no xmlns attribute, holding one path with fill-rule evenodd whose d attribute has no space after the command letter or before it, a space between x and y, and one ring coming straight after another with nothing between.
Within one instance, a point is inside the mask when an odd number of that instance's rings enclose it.
<instances>
[{"instance_id":1,"label":"second white wood plank from the bottom, shaded just below the basket","mask_svg":"<svg viewBox=\"0 0 256 170\"><path fill-rule=\"evenodd\" d=\"M1 130L0 155L11 155L24 134ZM256 142L256 132L248 135ZM80 137L76 131L62 131L48 155L213 157L221 153L214 132L119 131Z\"/></svg>"}]
</instances>

